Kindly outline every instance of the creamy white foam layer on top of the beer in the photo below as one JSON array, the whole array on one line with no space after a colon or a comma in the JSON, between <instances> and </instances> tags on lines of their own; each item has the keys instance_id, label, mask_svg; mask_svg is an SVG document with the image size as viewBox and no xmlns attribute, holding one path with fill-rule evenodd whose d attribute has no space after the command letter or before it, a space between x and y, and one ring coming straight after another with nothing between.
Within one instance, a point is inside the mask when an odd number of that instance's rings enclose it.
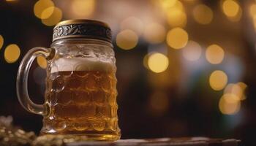
<instances>
[{"instance_id":1,"label":"creamy white foam layer on top of the beer","mask_svg":"<svg viewBox=\"0 0 256 146\"><path fill-rule=\"evenodd\" d=\"M53 61L51 73L64 71L113 71L113 64L96 58L59 58Z\"/></svg>"}]
</instances>

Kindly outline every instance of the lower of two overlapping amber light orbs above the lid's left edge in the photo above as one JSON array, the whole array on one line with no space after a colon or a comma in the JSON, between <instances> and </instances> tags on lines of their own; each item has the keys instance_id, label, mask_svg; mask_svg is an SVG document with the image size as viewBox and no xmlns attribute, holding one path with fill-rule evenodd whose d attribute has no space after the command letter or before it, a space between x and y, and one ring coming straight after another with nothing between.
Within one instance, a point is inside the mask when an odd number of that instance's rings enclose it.
<instances>
[{"instance_id":1,"label":"lower of two overlapping amber light orbs above the lid's left edge","mask_svg":"<svg viewBox=\"0 0 256 146\"><path fill-rule=\"evenodd\" d=\"M58 7L48 7L45 10L48 11L48 9L49 11L50 9L53 9L53 14L50 15L50 17L47 19L42 19L42 23L45 24L45 26L54 26L56 25L56 23L59 23L62 18L61 9L59 9Z\"/></svg>"}]
</instances>

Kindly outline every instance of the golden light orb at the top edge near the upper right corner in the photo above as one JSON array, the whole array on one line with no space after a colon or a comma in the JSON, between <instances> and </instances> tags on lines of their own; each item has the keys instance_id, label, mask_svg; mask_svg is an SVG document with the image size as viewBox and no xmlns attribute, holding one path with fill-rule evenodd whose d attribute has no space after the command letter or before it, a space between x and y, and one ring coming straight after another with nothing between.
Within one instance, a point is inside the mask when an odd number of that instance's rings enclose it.
<instances>
[{"instance_id":1,"label":"golden light orb at the top edge near the upper right corner","mask_svg":"<svg viewBox=\"0 0 256 146\"><path fill-rule=\"evenodd\" d=\"M235 17L238 15L240 6L234 0L225 0L222 4L222 9L227 17Z\"/></svg>"}]
</instances>

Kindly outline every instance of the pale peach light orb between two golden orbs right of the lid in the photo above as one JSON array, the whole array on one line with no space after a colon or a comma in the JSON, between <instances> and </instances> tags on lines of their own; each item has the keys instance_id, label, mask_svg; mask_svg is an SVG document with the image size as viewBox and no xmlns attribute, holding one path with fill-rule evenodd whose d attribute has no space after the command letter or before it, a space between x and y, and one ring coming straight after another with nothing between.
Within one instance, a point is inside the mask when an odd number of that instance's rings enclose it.
<instances>
[{"instance_id":1,"label":"pale peach light orb between two golden orbs right of the lid","mask_svg":"<svg viewBox=\"0 0 256 146\"><path fill-rule=\"evenodd\" d=\"M146 42L151 44L164 42L166 37L165 27L159 23L148 24L144 30L143 37Z\"/></svg>"}]
</instances>

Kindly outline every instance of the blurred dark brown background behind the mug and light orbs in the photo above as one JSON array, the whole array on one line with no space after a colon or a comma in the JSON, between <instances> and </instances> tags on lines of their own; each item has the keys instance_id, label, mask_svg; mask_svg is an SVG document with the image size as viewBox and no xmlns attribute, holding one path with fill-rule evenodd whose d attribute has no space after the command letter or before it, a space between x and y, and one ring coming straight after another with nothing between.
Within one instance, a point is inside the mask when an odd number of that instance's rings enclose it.
<instances>
[{"instance_id":1,"label":"blurred dark brown background behind the mug and light orbs","mask_svg":"<svg viewBox=\"0 0 256 146\"><path fill-rule=\"evenodd\" d=\"M25 53L32 47L50 47L52 39L53 26L46 26L34 15L36 2L0 1L0 35L4 38L0 50L0 115L12 115L15 125L39 134L42 116L26 112L15 92L18 65ZM241 8L241 18L235 21L222 12L223 1L181 1L187 15L187 23L182 27L189 34L189 40L202 47L197 61L187 61L182 56L182 48L175 50L165 41L152 45L143 36L139 36L138 44L131 50L116 45L116 35L122 31L121 22L130 16L142 20L144 26L154 22L164 26L166 32L174 28L162 17L161 7L156 6L155 1L94 1L93 11L88 15L72 13L69 8L72 1L53 2L62 11L61 20L102 20L113 29L118 118L123 139L199 136L236 138L255 144L256 16L251 16L250 9L256 1L236 1ZM198 4L211 8L214 13L211 23L202 25L193 19L192 11ZM20 56L12 64L4 58L4 50L10 44L20 47ZM221 64L210 64L206 60L206 48L211 44L225 51ZM144 56L152 51L164 52L167 56L169 66L165 72L155 73L143 65ZM214 70L224 71L227 83L246 84L246 99L239 101L238 112L229 115L219 110L224 89L214 91L209 85L208 78ZM29 76L29 94L36 103L43 102L44 78L44 69L35 61Z\"/></svg>"}]
</instances>

